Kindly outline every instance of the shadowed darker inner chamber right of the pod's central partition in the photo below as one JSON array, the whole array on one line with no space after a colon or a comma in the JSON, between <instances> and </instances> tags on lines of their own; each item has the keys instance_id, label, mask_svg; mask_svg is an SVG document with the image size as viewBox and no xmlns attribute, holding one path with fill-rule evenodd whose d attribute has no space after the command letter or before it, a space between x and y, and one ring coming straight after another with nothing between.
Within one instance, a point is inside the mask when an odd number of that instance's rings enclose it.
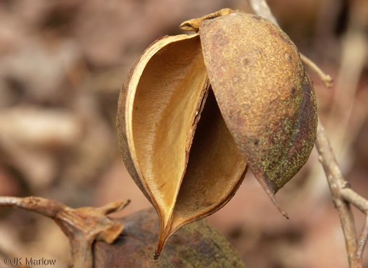
<instances>
[{"instance_id":1,"label":"shadowed darker inner chamber right of the pod's central partition","mask_svg":"<svg viewBox=\"0 0 368 268\"><path fill-rule=\"evenodd\" d=\"M203 214L214 213L218 206L226 203L238 185L245 167L246 162L226 127L210 90L175 204L172 230Z\"/></svg>"}]
</instances>

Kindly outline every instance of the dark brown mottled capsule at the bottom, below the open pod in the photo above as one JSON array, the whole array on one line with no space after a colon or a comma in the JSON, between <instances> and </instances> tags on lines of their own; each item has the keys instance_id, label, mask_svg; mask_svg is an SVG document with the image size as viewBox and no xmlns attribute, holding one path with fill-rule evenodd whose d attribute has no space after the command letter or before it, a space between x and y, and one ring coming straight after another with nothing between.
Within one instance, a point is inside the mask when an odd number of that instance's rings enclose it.
<instances>
[{"instance_id":1,"label":"dark brown mottled capsule at the bottom, below the open pod","mask_svg":"<svg viewBox=\"0 0 368 268\"><path fill-rule=\"evenodd\" d=\"M159 260L152 259L158 228L154 209L138 211L116 220L124 225L124 231L114 244L95 241L95 268L245 268L236 249L205 220L186 225L175 233Z\"/></svg>"}]
</instances>

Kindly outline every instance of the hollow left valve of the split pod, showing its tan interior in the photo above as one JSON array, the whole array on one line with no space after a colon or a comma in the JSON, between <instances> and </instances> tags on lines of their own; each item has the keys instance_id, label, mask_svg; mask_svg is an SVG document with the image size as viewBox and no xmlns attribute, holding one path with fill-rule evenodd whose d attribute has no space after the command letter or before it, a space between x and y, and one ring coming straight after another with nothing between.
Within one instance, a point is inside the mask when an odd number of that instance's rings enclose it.
<instances>
[{"instance_id":1,"label":"hollow left valve of the split pod, showing its tan interior","mask_svg":"<svg viewBox=\"0 0 368 268\"><path fill-rule=\"evenodd\" d=\"M243 181L246 162L210 90L198 34L166 36L144 52L121 90L117 124L125 165L158 212L156 255Z\"/></svg>"}]
</instances>

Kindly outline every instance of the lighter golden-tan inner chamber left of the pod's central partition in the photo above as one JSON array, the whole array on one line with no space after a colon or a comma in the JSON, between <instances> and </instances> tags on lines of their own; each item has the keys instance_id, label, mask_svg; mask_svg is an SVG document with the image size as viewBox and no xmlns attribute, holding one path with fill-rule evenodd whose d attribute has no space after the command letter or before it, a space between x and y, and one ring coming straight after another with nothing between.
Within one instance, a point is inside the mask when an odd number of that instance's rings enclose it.
<instances>
[{"instance_id":1,"label":"lighter golden-tan inner chamber left of the pod's central partition","mask_svg":"<svg viewBox=\"0 0 368 268\"><path fill-rule=\"evenodd\" d=\"M207 79L199 37L165 45L142 73L132 113L139 168L166 224L186 167Z\"/></svg>"}]
</instances>

